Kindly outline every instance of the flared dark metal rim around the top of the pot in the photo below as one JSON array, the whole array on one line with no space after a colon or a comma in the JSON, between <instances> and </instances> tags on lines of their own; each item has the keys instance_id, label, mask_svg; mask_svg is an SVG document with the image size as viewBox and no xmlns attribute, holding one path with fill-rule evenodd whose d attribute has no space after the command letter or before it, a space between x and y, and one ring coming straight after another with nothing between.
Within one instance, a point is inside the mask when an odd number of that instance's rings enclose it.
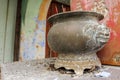
<instances>
[{"instance_id":1,"label":"flared dark metal rim around the top of the pot","mask_svg":"<svg viewBox=\"0 0 120 80\"><path fill-rule=\"evenodd\" d=\"M67 11L67 12L61 12L58 14L54 14L48 18L48 22L53 23L57 19L65 18L65 17L73 17L73 16L83 16L83 15L89 15L96 17L99 21L104 18L104 16L97 12L92 11Z\"/></svg>"}]
</instances>

